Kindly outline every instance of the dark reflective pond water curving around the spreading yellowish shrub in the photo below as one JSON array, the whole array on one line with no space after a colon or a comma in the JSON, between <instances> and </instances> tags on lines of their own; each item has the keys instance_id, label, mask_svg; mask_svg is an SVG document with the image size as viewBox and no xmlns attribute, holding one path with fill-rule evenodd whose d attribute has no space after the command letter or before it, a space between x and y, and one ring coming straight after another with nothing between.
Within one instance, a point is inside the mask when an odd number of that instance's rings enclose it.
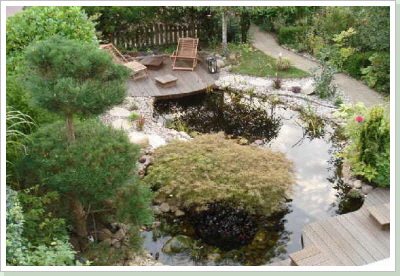
<instances>
[{"instance_id":1,"label":"dark reflective pond water curving around the spreading yellowish shrub","mask_svg":"<svg viewBox=\"0 0 400 276\"><path fill-rule=\"evenodd\" d=\"M244 104L252 101L253 107ZM254 104L255 103L255 104ZM256 106L256 107L254 107ZM217 92L155 103L160 122L186 131L224 131L231 138L244 137L249 143L285 152L295 164L297 185L285 208L267 218L255 218L258 228L251 243L223 249L206 244L196 233L190 218L162 216L160 227L144 231L144 248L166 265L264 265L288 258L302 249L305 225L358 209L362 202L346 196L340 179L339 136L326 124L319 131L299 112L281 105L261 104L257 99L237 98ZM260 149L262 150L262 149ZM193 239L191 248L178 254L164 254L162 247L175 235Z\"/></svg>"}]
</instances>

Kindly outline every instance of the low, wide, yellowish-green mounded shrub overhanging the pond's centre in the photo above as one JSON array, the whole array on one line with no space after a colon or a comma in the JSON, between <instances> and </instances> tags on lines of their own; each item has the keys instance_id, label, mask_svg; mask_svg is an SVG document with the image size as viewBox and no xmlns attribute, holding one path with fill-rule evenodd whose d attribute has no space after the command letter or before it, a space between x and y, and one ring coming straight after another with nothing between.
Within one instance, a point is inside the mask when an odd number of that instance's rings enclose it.
<instances>
[{"instance_id":1,"label":"low, wide, yellowish-green mounded shrub overhanging the pond's centre","mask_svg":"<svg viewBox=\"0 0 400 276\"><path fill-rule=\"evenodd\" d=\"M280 208L294 182L292 163L282 153L240 146L222 134L158 148L144 181L158 197L172 195L184 208L201 210L223 201L250 213Z\"/></svg>"}]
</instances>

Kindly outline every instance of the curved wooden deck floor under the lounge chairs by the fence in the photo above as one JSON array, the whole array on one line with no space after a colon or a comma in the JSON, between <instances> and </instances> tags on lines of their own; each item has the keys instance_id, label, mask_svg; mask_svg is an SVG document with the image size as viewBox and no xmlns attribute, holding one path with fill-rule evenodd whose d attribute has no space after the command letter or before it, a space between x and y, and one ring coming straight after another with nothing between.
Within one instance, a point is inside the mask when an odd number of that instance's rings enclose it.
<instances>
[{"instance_id":1,"label":"curved wooden deck floor under the lounge chairs by the fence","mask_svg":"<svg viewBox=\"0 0 400 276\"><path fill-rule=\"evenodd\" d=\"M199 60L195 70L172 70L171 59L164 60L159 70L148 70L149 77L140 80L128 80L128 95L133 97L177 98L190 94L204 92L207 87L213 86L219 74L210 74L206 62ZM156 84L154 78L171 74L178 78L174 87L163 88Z\"/></svg>"}]
</instances>

